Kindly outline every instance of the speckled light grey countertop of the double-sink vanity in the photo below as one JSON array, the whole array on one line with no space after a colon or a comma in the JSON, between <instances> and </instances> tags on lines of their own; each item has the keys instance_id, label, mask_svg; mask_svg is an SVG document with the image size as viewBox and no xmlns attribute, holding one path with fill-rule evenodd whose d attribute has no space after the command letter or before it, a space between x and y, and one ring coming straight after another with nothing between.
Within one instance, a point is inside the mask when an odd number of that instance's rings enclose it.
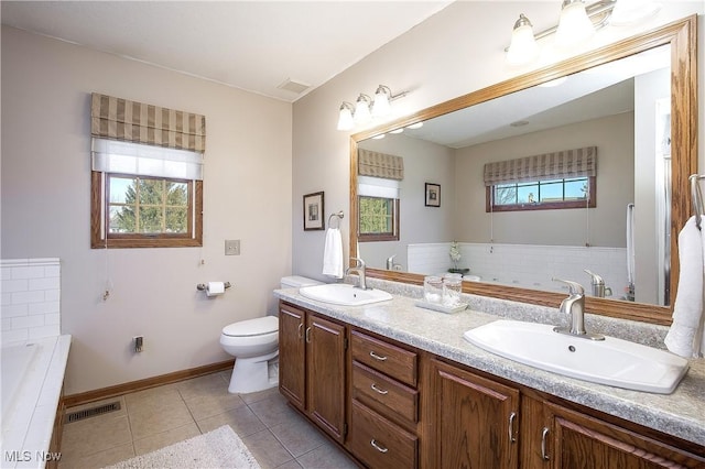
<instances>
[{"instance_id":1,"label":"speckled light grey countertop of the double-sink vanity","mask_svg":"<svg viewBox=\"0 0 705 469\"><path fill-rule=\"evenodd\" d=\"M413 288L413 286L402 287L405 294ZM381 290L393 293L387 287ZM416 299L411 297L413 295L394 295L392 301L356 307L312 301L301 296L296 288L276 290L274 296L519 384L705 445L705 359L690 361L687 374L672 394L652 394L595 384L543 371L485 351L463 338L463 332L466 330L497 320L500 316L557 324L555 315L551 316L551 312L546 317L538 317L541 309L550 308L533 305L528 307L514 302L481 298L480 303L489 302L492 303L491 308L501 309L501 315L471 309L448 315L415 306ZM473 304L470 306L475 307ZM490 307L482 309L488 310ZM511 309L516 309L513 316ZM527 314L527 310L530 310L530 314ZM657 336L663 332L661 326L641 325L634 321L612 318L593 320L593 323L596 321L599 321L603 328L597 328L595 331L610 336L616 336L615 332L620 329L643 328L644 340L634 341L642 341L650 346L659 341ZM590 325L587 318L586 323Z\"/></svg>"}]
</instances>

